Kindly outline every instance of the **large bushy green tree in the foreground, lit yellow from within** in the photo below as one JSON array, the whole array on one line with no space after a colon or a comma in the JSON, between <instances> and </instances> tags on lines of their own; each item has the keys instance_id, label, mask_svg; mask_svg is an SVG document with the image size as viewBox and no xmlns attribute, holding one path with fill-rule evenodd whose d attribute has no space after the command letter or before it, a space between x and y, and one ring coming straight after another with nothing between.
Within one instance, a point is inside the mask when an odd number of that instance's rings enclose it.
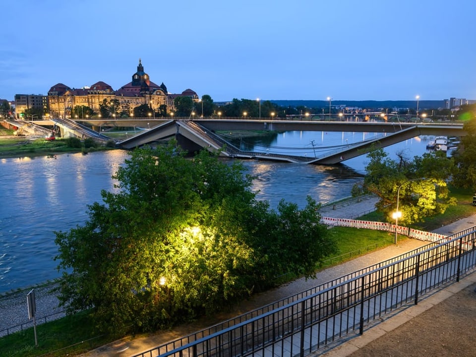
<instances>
[{"instance_id":1,"label":"large bushy green tree in the foreground, lit yellow from within","mask_svg":"<svg viewBox=\"0 0 476 357\"><path fill-rule=\"evenodd\" d=\"M313 276L336 249L312 199L271 210L238 162L205 151L136 149L115 178L84 226L56 233L60 301L91 308L101 330L149 331L217 311L280 274Z\"/></svg>"}]
</instances>

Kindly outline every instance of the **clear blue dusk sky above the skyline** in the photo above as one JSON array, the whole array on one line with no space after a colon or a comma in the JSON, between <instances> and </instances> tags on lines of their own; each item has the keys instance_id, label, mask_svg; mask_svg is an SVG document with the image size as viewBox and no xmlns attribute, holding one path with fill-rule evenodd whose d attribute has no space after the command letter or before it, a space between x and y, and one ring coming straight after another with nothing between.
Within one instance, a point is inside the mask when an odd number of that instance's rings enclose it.
<instances>
[{"instance_id":1,"label":"clear blue dusk sky above the skyline","mask_svg":"<svg viewBox=\"0 0 476 357\"><path fill-rule=\"evenodd\" d=\"M476 99L474 0L16 0L0 98L128 83L214 101Z\"/></svg>"}]
</instances>

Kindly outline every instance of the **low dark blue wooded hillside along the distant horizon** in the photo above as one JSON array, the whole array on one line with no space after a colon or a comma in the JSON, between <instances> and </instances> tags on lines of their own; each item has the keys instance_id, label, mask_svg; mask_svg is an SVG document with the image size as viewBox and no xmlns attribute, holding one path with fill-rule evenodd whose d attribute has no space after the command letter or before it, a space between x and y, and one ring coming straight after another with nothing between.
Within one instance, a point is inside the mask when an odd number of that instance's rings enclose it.
<instances>
[{"instance_id":1,"label":"low dark blue wooded hillside along the distant horizon","mask_svg":"<svg viewBox=\"0 0 476 357\"><path fill-rule=\"evenodd\" d=\"M307 107L307 108L328 108L329 101L322 100L270 100L281 107ZM416 109L416 100L413 101L346 101L331 100L331 106L346 106L357 108L409 108ZM420 100L418 109L443 109L445 107L444 100Z\"/></svg>"}]
</instances>

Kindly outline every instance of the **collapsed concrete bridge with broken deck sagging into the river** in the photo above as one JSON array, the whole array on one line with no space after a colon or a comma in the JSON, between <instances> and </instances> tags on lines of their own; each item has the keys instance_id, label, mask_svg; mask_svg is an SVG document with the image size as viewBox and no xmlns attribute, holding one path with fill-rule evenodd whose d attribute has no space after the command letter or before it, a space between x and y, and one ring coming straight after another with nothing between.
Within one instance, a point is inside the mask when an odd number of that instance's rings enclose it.
<instances>
[{"instance_id":1,"label":"collapsed concrete bridge with broken deck sagging into the river","mask_svg":"<svg viewBox=\"0 0 476 357\"><path fill-rule=\"evenodd\" d=\"M314 158L242 151L216 131L270 130L270 131L345 131L381 133L370 140L349 144L344 148L326 152ZM455 123L387 123L353 121L295 121L295 120L243 120L198 119L167 120L148 130L122 140L117 145L124 149L151 144L158 140L176 137L180 146L189 151L206 148L221 156L275 160L305 164L338 164L368 152L371 147L383 148L419 135L464 136L463 124Z\"/></svg>"}]
</instances>

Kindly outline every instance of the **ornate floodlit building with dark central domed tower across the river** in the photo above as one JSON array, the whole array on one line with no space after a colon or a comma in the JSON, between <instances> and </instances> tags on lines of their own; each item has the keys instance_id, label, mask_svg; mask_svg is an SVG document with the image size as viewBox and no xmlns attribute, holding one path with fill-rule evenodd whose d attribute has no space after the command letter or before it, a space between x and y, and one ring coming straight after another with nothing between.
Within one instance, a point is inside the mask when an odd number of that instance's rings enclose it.
<instances>
[{"instance_id":1,"label":"ornate floodlit building with dark central domed tower across the river","mask_svg":"<svg viewBox=\"0 0 476 357\"><path fill-rule=\"evenodd\" d=\"M117 91L102 81L80 89L69 88L62 83L54 85L48 91L48 110L51 118L72 118L73 108L77 106L89 107L95 113L100 113L101 105L110 103L114 107L114 117L119 117L120 114L131 117L134 108L143 104L154 113L160 108L166 108L167 113L170 113L175 109L174 99L178 96L188 96L194 102L199 101L198 95L191 89L186 89L181 94L169 94L164 83L159 86L150 80L139 59L132 80Z\"/></svg>"}]
</instances>

